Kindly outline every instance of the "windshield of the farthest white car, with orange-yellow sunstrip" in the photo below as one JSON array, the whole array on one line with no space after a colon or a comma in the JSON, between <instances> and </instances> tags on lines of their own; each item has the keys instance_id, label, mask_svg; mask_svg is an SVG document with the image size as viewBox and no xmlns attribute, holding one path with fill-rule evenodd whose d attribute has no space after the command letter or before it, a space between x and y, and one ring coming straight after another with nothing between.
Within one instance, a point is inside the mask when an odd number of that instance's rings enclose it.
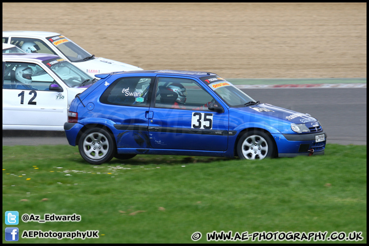
<instances>
[{"instance_id":1,"label":"windshield of the farthest white car, with orange-yellow sunstrip","mask_svg":"<svg viewBox=\"0 0 369 246\"><path fill-rule=\"evenodd\" d=\"M51 44L60 50L60 52L68 57L68 59L73 63L94 58L94 55L91 55L65 36L58 35L47 37L46 39L48 39Z\"/></svg>"}]
</instances>

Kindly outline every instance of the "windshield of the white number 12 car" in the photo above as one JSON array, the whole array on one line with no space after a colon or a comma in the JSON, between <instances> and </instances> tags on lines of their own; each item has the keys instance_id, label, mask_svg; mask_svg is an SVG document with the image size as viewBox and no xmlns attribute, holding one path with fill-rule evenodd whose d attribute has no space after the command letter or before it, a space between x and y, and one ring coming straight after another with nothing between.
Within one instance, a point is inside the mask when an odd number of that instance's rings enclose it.
<instances>
[{"instance_id":1,"label":"windshield of the white number 12 car","mask_svg":"<svg viewBox=\"0 0 369 246\"><path fill-rule=\"evenodd\" d=\"M81 71L63 58L55 58L43 62L69 87L82 87L93 84L96 79ZM35 74L37 75L37 74Z\"/></svg>"}]
</instances>

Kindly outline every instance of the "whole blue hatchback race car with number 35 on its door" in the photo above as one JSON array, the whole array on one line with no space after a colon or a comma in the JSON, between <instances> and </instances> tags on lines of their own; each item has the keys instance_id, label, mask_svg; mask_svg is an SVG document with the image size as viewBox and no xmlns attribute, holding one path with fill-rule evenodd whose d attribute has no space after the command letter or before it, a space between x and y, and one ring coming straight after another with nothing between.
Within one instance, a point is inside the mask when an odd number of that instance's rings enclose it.
<instances>
[{"instance_id":1,"label":"whole blue hatchback race car with number 35 on its door","mask_svg":"<svg viewBox=\"0 0 369 246\"><path fill-rule=\"evenodd\" d=\"M100 79L73 99L64 130L92 164L137 154L263 159L324 154L309 114L261 104L217 74L131 71Z\"/></svg>"}]
</instances>

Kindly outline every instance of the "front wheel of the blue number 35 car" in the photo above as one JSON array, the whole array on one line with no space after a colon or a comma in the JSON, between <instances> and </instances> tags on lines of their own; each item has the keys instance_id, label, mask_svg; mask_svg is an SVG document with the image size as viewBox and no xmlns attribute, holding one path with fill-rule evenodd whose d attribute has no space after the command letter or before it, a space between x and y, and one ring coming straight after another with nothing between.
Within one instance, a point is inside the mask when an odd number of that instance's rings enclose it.
<instances>
[{"instance_id":1,"label":"front wheel of the blue number 35 car","mask_svg":"<svg viewBox=\"0 0 369 246\"><path fill-rule=\"evenodd\" d=\"M271 137L262 131L244 133L237 144L237 155L240 159L264 159L273 157L274 143Z\"/></svg>"}]
</instances>

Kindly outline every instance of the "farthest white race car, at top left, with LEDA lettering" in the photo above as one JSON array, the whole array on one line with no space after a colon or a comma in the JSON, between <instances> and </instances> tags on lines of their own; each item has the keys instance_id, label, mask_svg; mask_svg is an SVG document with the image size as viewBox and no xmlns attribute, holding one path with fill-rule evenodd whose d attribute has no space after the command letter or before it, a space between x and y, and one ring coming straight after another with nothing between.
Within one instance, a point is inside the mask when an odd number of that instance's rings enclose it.
<instances>
[{"instance_id":1,"label":"farthest white race car, at top left, with LEDA lettering","mask_svg":"<svg viewBox=\"0 0 369 246\"><path fill-rule=\"evenodd\" d=\"M3 31L3 43L15 45L27 53L58 55L92 76L98 73L143 70L119 61L95 57L56 32Z\"/></svg>"}]
</instances>

